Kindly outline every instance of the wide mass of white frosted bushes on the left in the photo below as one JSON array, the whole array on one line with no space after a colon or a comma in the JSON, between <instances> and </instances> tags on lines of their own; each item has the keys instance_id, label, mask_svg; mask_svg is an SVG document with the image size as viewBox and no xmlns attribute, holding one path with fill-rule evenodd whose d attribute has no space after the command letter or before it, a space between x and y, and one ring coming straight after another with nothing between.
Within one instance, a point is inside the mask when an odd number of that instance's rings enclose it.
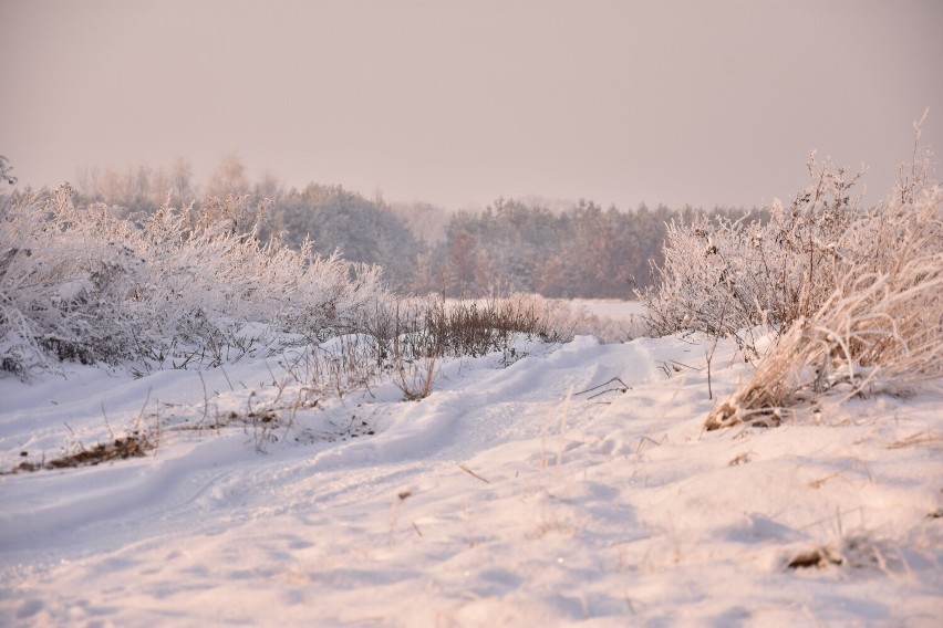
<instances>
[{"instance_id":1,"label":"wide mass of white frosted bushes on the left","mask_svg":"<svg viewBox=\"0 0 943 628\"><path fill-rule=\"evenodd\" d=\"M49 356L151 366L217 364L249 322L323 337L361 328L385 292L380 269L260 242L266 207L246 197L141 220L25 193L0 216L0 367Z\"/></svg>"}]
</instances>

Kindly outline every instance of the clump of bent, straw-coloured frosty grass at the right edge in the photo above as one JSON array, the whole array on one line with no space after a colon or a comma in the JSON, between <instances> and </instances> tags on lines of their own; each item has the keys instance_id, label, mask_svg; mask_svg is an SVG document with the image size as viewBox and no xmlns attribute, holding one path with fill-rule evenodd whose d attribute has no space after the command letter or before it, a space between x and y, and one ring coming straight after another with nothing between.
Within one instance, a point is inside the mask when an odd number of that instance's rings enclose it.
<instances>
[{"instance_id":1,"label":"clump of bent, straw-coloured frosty grass at the right edge","mask_svg":"<svg viewBox=\"0 0 943 628\"><path fill-rule=\"evenodd\" d=\"M778 425L787 408L816 399L909 395L943 377L943 254L902 264L893 275L849 279L833 301L800 318L749 379L707 418L707 429Z\"/></svg>"}]
</instances>

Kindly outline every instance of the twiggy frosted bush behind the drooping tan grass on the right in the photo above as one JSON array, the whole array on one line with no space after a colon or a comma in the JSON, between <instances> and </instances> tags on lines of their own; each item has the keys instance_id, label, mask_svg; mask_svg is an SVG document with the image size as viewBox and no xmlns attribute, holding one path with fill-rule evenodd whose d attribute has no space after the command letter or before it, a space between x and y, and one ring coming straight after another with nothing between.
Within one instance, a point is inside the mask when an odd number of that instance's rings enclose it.
<instances>
[{"instance_id":1,"label":"twiggy frosted bush behind the drooping tan grass on the right","mask_svg":"<svg viewBox=\"0 0 943 628\"><path fill-rule=\"evenodd\" d=\"M812 179L788 207L777 199L768 221L698 216L669 224L657 284L639 293L654 335L682 329L728 335L755 325L786 327L816 312L835 278L861 254L846 238L861 217L850 190L860 172L808 163Z\"/></svg>"}]
</instances>

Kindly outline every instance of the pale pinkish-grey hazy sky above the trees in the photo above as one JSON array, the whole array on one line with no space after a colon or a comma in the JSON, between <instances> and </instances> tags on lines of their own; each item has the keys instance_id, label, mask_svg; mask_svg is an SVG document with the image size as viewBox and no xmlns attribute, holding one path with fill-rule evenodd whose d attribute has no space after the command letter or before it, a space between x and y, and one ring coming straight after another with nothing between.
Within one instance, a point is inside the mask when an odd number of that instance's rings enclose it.
<instances>
[{"instance_id":1,"label":"pale pinkish-grey hazy sky above the trees","mask_svg":"<svg viewBox=\"0 0 943 628\"><path fill-rule=\"evenodd\" d=\"M809 150L883 197L943 156L943 2L0 0L0 154L498 197L754 206Z\"/></svg>"}]
</instances>

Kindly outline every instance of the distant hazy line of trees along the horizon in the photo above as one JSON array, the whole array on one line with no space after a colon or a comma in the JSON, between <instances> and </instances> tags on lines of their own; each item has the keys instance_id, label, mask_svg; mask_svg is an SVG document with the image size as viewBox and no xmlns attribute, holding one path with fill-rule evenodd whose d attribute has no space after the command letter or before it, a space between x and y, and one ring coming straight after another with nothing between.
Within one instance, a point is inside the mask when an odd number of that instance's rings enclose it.
<instances>
[{"instance_id":1,"label":"distant hazy line of trees along the horizon","mask_svg":"<svg viewBox=\"0 0 943 628\"><path fill-rule=\"evenodd\" d=\"M498 199L483 211L448 212L370 199L336 185L286 190L271 175L251 184L235 155L222 160L201 195L184 161L169 170L86 169L77 192L79 202L115 205L131 214L151 214L167 202L199 207L206 202L200 199L228 195L269 199L262 238L377 264L398 291L469 297L528 292L632 299L635 289L650 285L651 264L663 263L672 220L690 223L705 213L736 220L746 213L645 205L626 211L589 200L561 209L539 199Z\"/></svg>"}]
</instances>

